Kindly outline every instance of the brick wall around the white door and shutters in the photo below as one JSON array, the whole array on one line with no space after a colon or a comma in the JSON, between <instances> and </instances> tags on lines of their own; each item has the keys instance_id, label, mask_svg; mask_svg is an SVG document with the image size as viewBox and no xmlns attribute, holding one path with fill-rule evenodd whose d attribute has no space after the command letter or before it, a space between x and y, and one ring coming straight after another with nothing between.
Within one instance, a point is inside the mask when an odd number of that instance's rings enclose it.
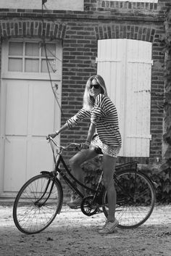
<instances>
[{"instance_id":1,"label":"brick wall around the white door and shutters","mask_svg":"<svg viewBox=\"0 0 171 256\"><path fill-rule=\"evenodd\" d=\"M57 10L0 9L0 37L61 38L62 123L82 106L86 80L96 74L97 40L128 38L150 41L154 65L151 76L151 149L150 157L138 159L143 164L162 158L164 53L162 36L170 1L158 4L85 0L84 12ZM43 18L43 22L42 22ZM62 134L61 142L86 139L88 121ZM72 153L67 157L70 157ZM120 162L130 159L120 158Z\"/></svg>"}]
</instances>

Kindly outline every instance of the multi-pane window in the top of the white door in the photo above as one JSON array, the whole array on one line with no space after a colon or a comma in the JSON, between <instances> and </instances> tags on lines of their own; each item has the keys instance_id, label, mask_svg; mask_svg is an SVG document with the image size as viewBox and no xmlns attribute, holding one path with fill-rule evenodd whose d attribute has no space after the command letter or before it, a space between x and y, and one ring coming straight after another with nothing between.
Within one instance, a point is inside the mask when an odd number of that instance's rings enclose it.
<instances>
[{"instance_id":1,"label":"multi-pane window in the top of the white door","mask_svg":"<svg viewBox=\"0 0 171 256\"><path fill-rule=\"evenodd\" d=\"M9 41L8 71L22 73L47 73L56 70L56 44L46 44L46 51L36 42Z\"/></svg>"}]
</instances>

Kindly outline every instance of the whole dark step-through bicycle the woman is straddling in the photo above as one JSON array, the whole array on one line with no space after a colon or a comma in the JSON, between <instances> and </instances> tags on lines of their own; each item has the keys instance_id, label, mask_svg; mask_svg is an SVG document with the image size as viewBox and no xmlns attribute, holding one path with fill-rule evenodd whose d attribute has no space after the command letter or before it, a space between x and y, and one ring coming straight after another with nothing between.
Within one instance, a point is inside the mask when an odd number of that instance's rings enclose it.
<instances>
[{"instance_id":1,"label":"whole dark step-through bicycle the woman is straddling","mask_svg":"<svg viewBox=\"0 0 171 256\"><path fill-rule=\"evenodd\" d=\"M79 144L59 146L51 137L49 137L49 143L54 157L54 170L51 172L41 171L41 174L30 178L22 186L14 200L14 223L25 234L36 234L43 231L61 212L63 190L59 176L83 199L80 205L83 214L91 216L103 212L106 217L108 215L107 191L102 183L103 172L95 189L80 183L72 176L62 157L64 150L72 146L78 149ZM65 171L59 167L61 164ZM138 162L129 162L117 165L115 168L116 218L120 223L119 228L141 226L154 209L154 183L138 170L137 165ZM84 197L75 183L83 186L91 194Z\"/></svg>"}]
</instances>

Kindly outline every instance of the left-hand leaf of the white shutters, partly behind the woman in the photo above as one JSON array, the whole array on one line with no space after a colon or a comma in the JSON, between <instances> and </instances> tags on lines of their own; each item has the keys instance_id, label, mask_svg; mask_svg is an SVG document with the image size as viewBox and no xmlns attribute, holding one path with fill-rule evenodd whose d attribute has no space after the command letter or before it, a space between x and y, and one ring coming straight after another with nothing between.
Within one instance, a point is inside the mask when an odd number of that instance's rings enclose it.
<instances>
[{"instance_id":1,"label":"left-hand leaf of the white shutters, partly behind the woman","mask_svg":"<svg viewBox=\"0 0 171 256\"><path fill-rule=\"evenodd\" d=\"M124 77L125 70L124 40L100 40L98 41L98 66L97 73L104 78L107 93L117 107L120 123L120 133L124 136L125 94ZM120 151L123 154L123 146Z\"/></svg>"}]
</instances>

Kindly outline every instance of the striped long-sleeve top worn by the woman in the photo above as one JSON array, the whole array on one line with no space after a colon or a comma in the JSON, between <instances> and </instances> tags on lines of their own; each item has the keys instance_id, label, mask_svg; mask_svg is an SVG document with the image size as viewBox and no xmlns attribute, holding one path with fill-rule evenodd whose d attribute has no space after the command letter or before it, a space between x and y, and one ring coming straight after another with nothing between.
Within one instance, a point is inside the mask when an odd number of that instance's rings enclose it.
<instances>
[{"instance_id":1,"label":"striped long-sleeve top worn by the woman","mask_svg":"<svg viewBox=\"0 0 171 256\"><path fill-rule=\"evenodd\" d=\"M72 128L87 117L90 117L91 123L96 125L96 132L104 144L121 146L117 110L108 96L104 94L96 96L93 109L80 109L76 115L67 120L67 125Z\"/></svg>"}]
</instances>

